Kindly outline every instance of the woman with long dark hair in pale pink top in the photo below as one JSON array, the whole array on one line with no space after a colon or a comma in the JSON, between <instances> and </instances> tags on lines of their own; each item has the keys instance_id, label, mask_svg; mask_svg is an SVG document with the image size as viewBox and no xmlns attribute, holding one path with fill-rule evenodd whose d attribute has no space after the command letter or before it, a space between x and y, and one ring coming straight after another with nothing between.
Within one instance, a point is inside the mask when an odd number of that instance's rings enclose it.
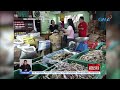
<instances>
[{"instance_id":1,"label":"woman with long dark hair in pale pink top","mask_svg":"<svg viewBox=\"0 0 120 90\"><path fill-rule=\"evenodd\" d=\"M62 30L64 30L63 34L67 35L67 44L69 45L70 41L74 41L75 27L74 27L72 19L68 19L67 23L68 23L67 30L64 28L62 28Z\"/></svg>"}]
</instances>

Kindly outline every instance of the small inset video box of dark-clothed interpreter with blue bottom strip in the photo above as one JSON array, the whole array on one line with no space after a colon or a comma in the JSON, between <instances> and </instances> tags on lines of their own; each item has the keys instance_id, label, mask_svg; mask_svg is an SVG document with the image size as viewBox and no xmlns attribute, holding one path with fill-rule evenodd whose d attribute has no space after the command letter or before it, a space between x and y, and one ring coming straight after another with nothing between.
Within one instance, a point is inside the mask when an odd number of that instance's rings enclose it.
<instances>
[{"instance_id":1,"label":"small inset video box of dark-clothed interpreter with blue bottom strip","mask_svg":"<svg viewBox=\"0 0 120 90\"><path fill-rule=\"evenodd\" d=\"M32 74L32 59L20 59L20 74Z\"/></svg>"}]
</instances>

